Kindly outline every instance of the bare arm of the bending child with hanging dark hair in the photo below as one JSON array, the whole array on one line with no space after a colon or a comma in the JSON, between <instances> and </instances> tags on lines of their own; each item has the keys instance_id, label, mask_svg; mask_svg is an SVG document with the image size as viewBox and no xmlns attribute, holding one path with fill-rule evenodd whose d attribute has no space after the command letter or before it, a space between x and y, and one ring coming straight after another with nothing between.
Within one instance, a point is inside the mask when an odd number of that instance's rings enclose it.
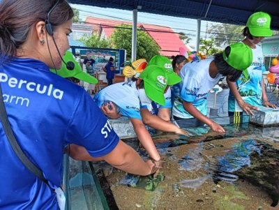
<instances>
[{"instance_id":1,"label":"bare arm of the bending child with hanging dark hair","mask_svg":"<svg viewBox=\"0 0 279 210\"><path fill-rule=\"evenodd\" d=\"M195 117L202 123L205 123L206 125L208 125L212 130L220 132L220 133L225 132L225 130L222 126L220 126L218 123L212 121L208 117L204 116L204 114L199 112L199 110L197 110L197 108L194 107L193 103L183 100L183 108L184 108L184 110L189 112L193 117Z\"/></svg>"}]
</instances>

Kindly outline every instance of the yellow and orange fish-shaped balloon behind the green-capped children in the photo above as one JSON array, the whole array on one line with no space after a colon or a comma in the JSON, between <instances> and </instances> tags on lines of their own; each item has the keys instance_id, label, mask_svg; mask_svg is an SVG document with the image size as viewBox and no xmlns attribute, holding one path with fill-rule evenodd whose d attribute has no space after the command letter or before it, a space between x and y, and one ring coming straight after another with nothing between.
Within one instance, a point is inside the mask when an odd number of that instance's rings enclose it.
<instances>
[{"instance_id":1,"label":"yellow and orange fish-shaped balloon behind the green-capped children","mask_svg":"<svg viewBox=\"0 0 279 210\"><path fill-rule=\"evenodd\" d=\"M132 62L126 62L126 65L123 68L123 75L126 77L133 77L135 76L137 73L142 73L142 70L144 70L144 68L147 65L146 59L138 59L137 61Z\"/></svg>"}]
</instances>

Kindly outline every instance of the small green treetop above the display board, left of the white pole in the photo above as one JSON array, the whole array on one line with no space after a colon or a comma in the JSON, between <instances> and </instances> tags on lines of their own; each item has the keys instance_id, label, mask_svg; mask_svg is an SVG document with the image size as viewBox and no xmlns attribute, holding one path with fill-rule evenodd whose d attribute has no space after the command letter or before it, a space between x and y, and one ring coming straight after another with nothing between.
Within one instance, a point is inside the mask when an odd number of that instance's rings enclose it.
<instances>
[{"instance_id":1,"label":"small green treetop above the display board, left of the white pole","mask_svg":"<svg viewBox=\"0 0 279 210\"><path fill-rule=\"evenodd\" d=\"M103 47L103 48L110 48L112 47L112 43L110 40L107 40L105 38L100 38L100 36L92 33L91 35L84 34L82 38L80 39L86 47Z\"/></svg>"}]
</instances>

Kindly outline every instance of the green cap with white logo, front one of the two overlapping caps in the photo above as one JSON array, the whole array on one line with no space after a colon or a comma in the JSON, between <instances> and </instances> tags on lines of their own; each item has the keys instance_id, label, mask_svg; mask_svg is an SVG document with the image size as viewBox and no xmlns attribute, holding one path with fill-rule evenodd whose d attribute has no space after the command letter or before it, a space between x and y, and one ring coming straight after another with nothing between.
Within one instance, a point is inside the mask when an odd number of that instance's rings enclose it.
<instances>
[{"instance_id":1,"label":"green cap with white logo, front one of the two overlapping caps","mask_svg":"<svg viewBox=\"0 0 279 210\"><path fill-rule=\"evenodd\" d=\"M140 74L144 80L146 95L156 103L165 105L164 92L167 87L167 73L160 66L149 65Z\"/></svg>"}]
</instances>

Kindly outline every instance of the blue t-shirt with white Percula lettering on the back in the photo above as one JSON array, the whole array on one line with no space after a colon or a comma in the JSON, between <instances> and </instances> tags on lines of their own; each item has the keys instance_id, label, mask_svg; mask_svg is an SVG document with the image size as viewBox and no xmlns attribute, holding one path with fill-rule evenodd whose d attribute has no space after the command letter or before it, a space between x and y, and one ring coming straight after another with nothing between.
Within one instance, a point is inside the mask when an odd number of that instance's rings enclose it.
<instances>
[{"instance_id":1,"label":"blue t-shirt with white Percula lettering on the back","mask_svg":"<svg viewBox=\"0 0 279 210\"><path fill-rule=\"evenodd\" d=\"M119 142L91 96L34 59L0 61L8 119L22 151L50 186L61 186L63 149L83 146L98 157ZM0 124L0 209L59 209L56 193L30 172L11 149Z\"/></svg>"}]
</instances>

